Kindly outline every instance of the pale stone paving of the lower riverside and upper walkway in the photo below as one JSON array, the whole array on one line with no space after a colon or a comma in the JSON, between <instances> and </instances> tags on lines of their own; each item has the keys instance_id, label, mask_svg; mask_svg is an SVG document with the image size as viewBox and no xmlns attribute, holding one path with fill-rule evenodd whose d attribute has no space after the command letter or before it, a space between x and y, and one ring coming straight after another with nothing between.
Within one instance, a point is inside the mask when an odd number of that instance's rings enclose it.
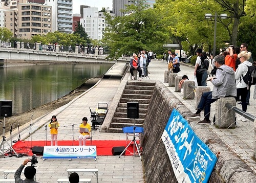
<instances>
[{"instance_id":1,"label":"pale stone paving of the lower riverside and upper walkway","mask_svg":"<svg viewBox=\"0 0 256 183\"><path fill-rule=\"evenodd\" d=\"M148 67L150 72L148 78L143 78L142 81L164 81L164 71L167 70L167 64L165 61L152 60ZM178 76L186 74L189 79L193 78L194 68L181 65L181 72ZM129 74L124 76L124 80L129 80ZM72 124L77 124L81 122L83 117L88 117L90 120L90 110L97 108L99 102L106 102L111 105L111 102L116 94L118 86L120 84L119 79L102 79L90 90L86 91L69 104L62 106L46 116L40 117L38 119L32 120L32 140L45 140L45 124L48 124L52 115L56 115L60 123L58 141L61 140L72 140ZM164 83L168 86L168 83ZM207 83L210 88L212 84ZM168 87L192 112L195 112L195 100L183 100L180 93L174 92L174 87ZM255 100L253 100L252 95L254 91L254 86L251 88L251 99L250 106L248 106L248 111L251 115L256 116L255 112ZM241 107L238 105L238 107ZM215 103L211 107L211 119L214 115ZM22 139L25 139L30 132L30 122L28 124L20 127ZM65 126L65 127L63 127ZM256 172L256 163L252 161L252 151L253 151L253 122L242 122L237 121L237 126L235 129L218 129L214 125L208 125L208 127L218 135L223 142L230 146L230 149L241 156L241 159L247 163L252 170ZM78 125L74 127L74 136L77 140L78 134L76 133ZM48 129L47 129L48 130ZM15 130L14 132L15 133ZM125 134L123 133L104 133L93 131L93 140L125 140ZM29 138L30 139L30 138ZM241 139L241 140L240 140ZM26 139L26 141L28 138ZM49 130L47 131L47 140L50 140ZM7 135L7 141L8 135ZM6 157L1 158L0 162L0 176L4 178L3 171L17 169L20 164L23 163L24 159L27 157ZM97 168L99 169L99 182L104 183L117 183L117 182L127 182L127 183L142 183L143 181L143 167L138 156L98 156L97 160L94 159L46 159L42 161L38 157L37 173L36 179L41 183L56 182L58 178L66 178L68 168ZM96 177L90 173L84 173L83 177L91 177L92 182L96 182ZM24 177L24 175L22 176ZM13 178L13 175L9 175L8 178Z\"/></svg>"}]
</instances>

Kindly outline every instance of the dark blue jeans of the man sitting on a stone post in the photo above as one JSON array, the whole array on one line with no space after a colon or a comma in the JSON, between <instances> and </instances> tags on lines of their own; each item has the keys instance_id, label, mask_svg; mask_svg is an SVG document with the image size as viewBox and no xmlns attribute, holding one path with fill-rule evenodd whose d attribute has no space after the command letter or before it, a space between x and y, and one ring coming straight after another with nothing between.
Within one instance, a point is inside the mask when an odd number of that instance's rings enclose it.
<instances>
[{"instance_id":1,"label":"dark blue jeans of the man sitting on a stone post","mask_svg":"<svg viewBox=\"0 0 256 183\"><path fill-rule=\"evenodd\" d=\"M217 99L211 98L212 91L203 93L200 102L198 104L198 109L204 109L204 118L208 120L210 118L210 104L214 103Z\"/></svg>"}]
</instances>

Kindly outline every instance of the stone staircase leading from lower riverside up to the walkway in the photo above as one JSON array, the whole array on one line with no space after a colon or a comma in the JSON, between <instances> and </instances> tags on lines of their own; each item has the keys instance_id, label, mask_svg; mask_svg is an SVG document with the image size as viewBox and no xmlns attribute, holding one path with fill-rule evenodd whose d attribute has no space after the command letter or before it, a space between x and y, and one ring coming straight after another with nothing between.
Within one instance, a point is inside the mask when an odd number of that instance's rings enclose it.
<instances>
[{"instance_id":1,"label":"stone staircase leading from lower riverside up to the walkway","mask_svg":"<svg viewBox=\"0 0 256 183\"><path fill-rule=\"evenodd\" d=\"M135 119L135 126L143 127L155 84L155 82L127 81L111 121L109 132L122 133L123 127L133 126L133 119L127 118L126 103L131 101L139 103L139 118Z\"/></svg>"}]
</instances>

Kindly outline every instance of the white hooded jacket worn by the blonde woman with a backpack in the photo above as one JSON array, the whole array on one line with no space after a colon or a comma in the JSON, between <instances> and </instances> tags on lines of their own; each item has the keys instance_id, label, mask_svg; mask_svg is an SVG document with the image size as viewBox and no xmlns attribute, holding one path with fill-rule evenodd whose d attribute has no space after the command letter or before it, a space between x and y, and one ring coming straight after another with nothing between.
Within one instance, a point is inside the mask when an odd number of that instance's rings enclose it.
<instances>
[{"instance_id":1,"label":"white hooded jacket worn by the blonde woman with a backpack","mask_svg":"<svg viewBox=\"0 0 256 183\"><path fill-rule=\"evenodd\" d=\"M247 87L247 84L244 82L244 79L242 77L246 75L248 71L248 66L251 66L252 63L249 61L244 61L243 63L238 65L236 73L234 73L234 79L236 79L237 88L245 88Z\"/></svg>"}]
</instances>

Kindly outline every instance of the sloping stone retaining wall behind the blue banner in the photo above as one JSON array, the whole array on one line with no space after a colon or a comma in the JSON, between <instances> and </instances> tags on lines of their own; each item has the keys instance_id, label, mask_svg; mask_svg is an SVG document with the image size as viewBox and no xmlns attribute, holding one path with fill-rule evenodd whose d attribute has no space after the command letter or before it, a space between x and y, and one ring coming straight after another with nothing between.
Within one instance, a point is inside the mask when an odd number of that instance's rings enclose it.
<instances>
[{"instance_id":1,"label":"sloping stone retaining wall behind the blue banner","mask_svg":"<svg viewBox=\"0 0 256 183\"><path fill-rule=\"evenodd\" d=\"M161 140L162 132L173 108L188 120L192 115L190 110L183 105L161 82L157 82L153 91L152 100L148 107L144 122L144 135L141 145L143 148L143 166L147 183L178 182L164 144ZM189 120L188 120L189 122ZM205 125L190 123L190 126L210 149L216 153L221 151L220 157L209 182L256 182L255 173L232 151L226 150L226 145L218 139Z\"/></svg>"}]
</instances>

